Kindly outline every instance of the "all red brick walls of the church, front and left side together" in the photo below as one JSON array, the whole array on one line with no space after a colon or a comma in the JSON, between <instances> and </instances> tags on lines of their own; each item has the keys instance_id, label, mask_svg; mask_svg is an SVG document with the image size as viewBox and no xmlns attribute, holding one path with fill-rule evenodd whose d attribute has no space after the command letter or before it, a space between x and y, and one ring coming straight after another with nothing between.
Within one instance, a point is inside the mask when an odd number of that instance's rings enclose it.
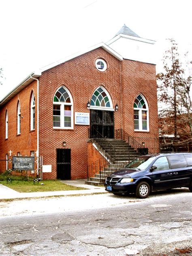
<instances>
[{"instance_id":1,"label":"all red brick walls of the church, front and left side together","mask_svg":"<svg viewBox=\"0 0 192 256\"><path fill-rule=\"evenodd\" d=\"M94 63L97 58L107 62L107 70L100 72ZM36 130L30 132L30 94L36 95L36 82L28 85L0 110L0 158L11 149L22 155L36 151ZM53 96L64 85L73 98L74 129L53 129ZM88 128L75 125L75 112L87 112L87 102L94 90L102 85L109 92L115 111L115 130L123 128L132 136L158 137L157 95L155 65L113 57L102 48L85 53L55 66L39 77L39 155L43 164L51 164L52 172L43 173L44 179L57 177L57 149L71 149L71 179L87 177ZM134 132L133 102L142 93L149 105L149 132ZM21 135L17 133L17 101L21 102ZM9 139L5 140L5 111L9 113ZM37 115L36 115L37 116ZM66 141L66 146L63 146ZM90 144L90 143L88 143ZM89 146L88 146L89 147ZM90 149L88 150L88 154ZM96 156L96 155L95 155ZM99 156L98 156L99 158ZM4 164L5 165L5 164ZM2 166L3 170L5 166Z\"/></svg>"}]
</instances>

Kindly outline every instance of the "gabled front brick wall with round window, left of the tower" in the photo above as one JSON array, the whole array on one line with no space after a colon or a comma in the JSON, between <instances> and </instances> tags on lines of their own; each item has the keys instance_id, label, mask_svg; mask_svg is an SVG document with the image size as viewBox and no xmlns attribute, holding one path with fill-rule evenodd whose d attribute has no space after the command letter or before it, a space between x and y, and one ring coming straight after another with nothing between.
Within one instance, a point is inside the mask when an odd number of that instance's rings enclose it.
<instances>
[{"instance_id":1,"label":"gabled front brick wall with round window, left of the tower","mask_svg":"<svg viewBox=\"0 0 192 256\"><path fill-rule=\"evenodd\" d=\"M95 60L103 58L107 62L105 72L98 71ZM102 85L109 92L113 107L120 102L119 93L120 62L102 48L88 52L64 64L47 70L40 77L40 152L43 164L52 165L52 173L43 173L44 178L56 178L56 149L71 149L71 179L87 177L87 138L89 126L75 125L73 130L53 129L53 95L64 85L73 97L75 112L90 112L87 102L94 90ZM120 112L115 112L115 128L120 128ZM117 122L116 122L117 121ZM66 147L63 147L66 141Z\"/></svg>"}]
</instances>

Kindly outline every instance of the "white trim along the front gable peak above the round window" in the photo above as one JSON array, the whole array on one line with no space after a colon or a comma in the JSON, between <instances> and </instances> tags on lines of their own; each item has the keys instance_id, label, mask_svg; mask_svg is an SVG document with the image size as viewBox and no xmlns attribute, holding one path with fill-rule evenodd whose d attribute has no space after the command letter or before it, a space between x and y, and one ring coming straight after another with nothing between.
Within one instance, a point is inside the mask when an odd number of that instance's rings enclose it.
<instances>
[{"instance_id":1,"label":"white trim along the front gable peak above the round window","mask_svg":"<svg viewBox=\"0 0 192 256\"><path fill-rule=\"evenodd\" d=\"M95 49L97 49L97 48L99 48L99 47L102 47L105 51L109 52L111 55L113 55L115 58L117 58L117 60L120 60L120 61L123 60L123 57L122 57L119 53L117 53L116 51L114 51L113 49L111 49L108 45L106 45L105 43L102 42L102 43L99 43L99 44L97 44L97 45L94 45L94 46L92 46L92 47L90 47L90 48L88 48L88 49L86 49L86 50L84 50L84 51L77 52L77 53L75 53L75 54L73 54L73 55L70 55L70 56L64 58L64 59L58 60L58 61L53 62L53 63L51 63L51 64L49 64L49 65L47 65L47 66L44 66L44 67L41 68L40 70L41 70L41 72L44 72L44 71L46 71L46 70L49 70L50 68L53 68L53 67L55 67L55 66L58 66L58 65L60 65L60 64L62 64L62 63L64 63L64 62L66 62L66 61L68 61L68 60L72 60L72 59L74 59L74 58L76 58L76 57L78 57L78 56L80 56L80 55L83 55L83 54L85 54L85 53L87 53L87 52L89 52L89 51L93 51L93 50L95 50Z\"/></svg>"}]
</instances>

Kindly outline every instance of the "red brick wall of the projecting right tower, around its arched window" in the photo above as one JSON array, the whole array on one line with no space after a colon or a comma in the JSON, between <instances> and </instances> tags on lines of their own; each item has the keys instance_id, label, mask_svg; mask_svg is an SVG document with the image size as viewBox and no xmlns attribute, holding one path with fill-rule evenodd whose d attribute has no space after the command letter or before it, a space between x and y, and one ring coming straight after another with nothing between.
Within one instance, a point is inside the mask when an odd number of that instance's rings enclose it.
<instances>
[{"instance_id":1,"label":"red brick wall of the projecting right tower, around its arched window","mask_svg":"<svg viewBox=\"0 0 192 256\"><path fill-rule=\"evenodd\" d=\"M132 60L123 60L121 63L123 129L133 137L158 138L156 66ZM149 132L134 131L133 104L138 94L143 94L147 100L149 107ZM158 152L158 140L149 147L151 147L149 151Z\"/></svg>"}]
</instances>

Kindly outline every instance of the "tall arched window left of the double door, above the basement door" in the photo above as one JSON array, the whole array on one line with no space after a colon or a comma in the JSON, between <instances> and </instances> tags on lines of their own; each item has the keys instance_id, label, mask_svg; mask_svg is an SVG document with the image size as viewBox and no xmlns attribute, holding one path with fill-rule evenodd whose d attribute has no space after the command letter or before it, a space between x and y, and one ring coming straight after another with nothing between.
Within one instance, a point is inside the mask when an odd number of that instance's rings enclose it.
<instances>
[{"instance_id":1,"label":"tall arched window left of the double door, above the basement door","mask_svg":"<svg viewBox=\"0 0 192 256\"><path fill-rule=\"evenodd\" d=\"M73 99L64 86L53 98L53 128L73 129Z\"/></svg>"}]
</instances>

